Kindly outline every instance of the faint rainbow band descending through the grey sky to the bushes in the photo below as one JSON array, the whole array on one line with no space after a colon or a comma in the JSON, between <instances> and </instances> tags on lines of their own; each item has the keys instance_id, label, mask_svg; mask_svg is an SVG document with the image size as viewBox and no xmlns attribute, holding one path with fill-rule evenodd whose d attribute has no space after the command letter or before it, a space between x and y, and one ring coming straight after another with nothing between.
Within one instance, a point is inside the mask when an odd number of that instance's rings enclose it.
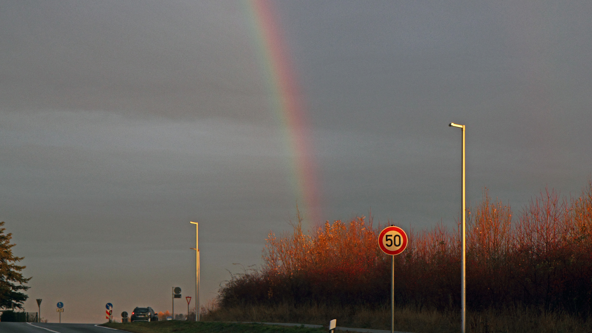
<instances>
[{"instance_id":1,"label":"faint rainbow band descending through the grey sky to the bushes","mask_svg":"<svg viewBox=\"0 0 592 333\"><path fill-rule=\"evenodd\" d=\"M247 0L246 10L253 41L259 51L269 107L282 124L285 143L292 159L292 187L298 209L304 217L303 226L311 229L321 220L313 136L304 96L272 1Z\"/></svg>"}]
</instances>

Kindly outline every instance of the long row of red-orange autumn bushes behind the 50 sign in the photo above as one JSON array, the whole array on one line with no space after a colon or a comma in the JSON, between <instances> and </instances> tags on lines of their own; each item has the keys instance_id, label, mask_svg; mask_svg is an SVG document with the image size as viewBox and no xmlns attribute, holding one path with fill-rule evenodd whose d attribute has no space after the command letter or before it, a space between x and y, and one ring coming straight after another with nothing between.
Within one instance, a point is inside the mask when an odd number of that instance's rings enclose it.
<instances>
[{"instance_id":1,"label":"long row of red-orange autumn bushes behind the 50 sign","mask_svg":"<svg viewBox=\"0 0 592 333\"><path fill-rule=\"evenodd\" d=\"M546 190L519 214L487 190L466 226L467 304L471 309L536 306L589 313L592 308L592 181L568 201ZM293 232L270 233L260 270L234 275L220 289L221 306L239 304L385 306L391 258L378 248L381 226L357 217L326 222L312 235L300 217ZM408 230L395 256L398 306L460 305L461 233L441 223Z\"/></svg>"}]
</instances>

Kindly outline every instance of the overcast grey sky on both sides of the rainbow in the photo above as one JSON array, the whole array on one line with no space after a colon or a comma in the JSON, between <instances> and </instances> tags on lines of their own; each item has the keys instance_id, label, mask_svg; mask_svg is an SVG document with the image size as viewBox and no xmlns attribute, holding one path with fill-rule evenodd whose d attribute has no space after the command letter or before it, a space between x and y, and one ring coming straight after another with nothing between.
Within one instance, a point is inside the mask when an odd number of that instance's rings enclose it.
<instances>
[{"instance_id":1,"label":"overcast grey sky on both sides of the rainbow","mask_svg":"<svg viewBox=\"0 0 592 333\"><path fill-rule=\"evenodd\" d=\"M202 303L260 264L298 200L246 3L0 3L0 220L66 322ZM323 219L453 225L592 174L592 4L278 2L313 127ZM184 300L175 310L185 309Z\"/></svg>"}]
</instances>

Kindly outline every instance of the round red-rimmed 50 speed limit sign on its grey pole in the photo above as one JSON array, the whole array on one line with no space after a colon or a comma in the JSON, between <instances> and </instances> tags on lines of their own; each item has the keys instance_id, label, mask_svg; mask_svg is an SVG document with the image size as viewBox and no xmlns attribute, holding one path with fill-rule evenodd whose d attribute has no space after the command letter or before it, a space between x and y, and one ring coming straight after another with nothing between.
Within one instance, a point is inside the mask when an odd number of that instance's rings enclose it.
<instances>
[{"instance_id":1,"label":"round red-rimmed 50 speed limit sign on its grey pole","mask_svg":"<svg viewBox=\"0 0 592 333\"><path fill-rule=\"evenodd\" d=\"M387 226L378 236L378 246L391 260L391 333L395 332L395 255L401 254L407 247L407 234L398 226Z\"/></svg>"}]
</instances>

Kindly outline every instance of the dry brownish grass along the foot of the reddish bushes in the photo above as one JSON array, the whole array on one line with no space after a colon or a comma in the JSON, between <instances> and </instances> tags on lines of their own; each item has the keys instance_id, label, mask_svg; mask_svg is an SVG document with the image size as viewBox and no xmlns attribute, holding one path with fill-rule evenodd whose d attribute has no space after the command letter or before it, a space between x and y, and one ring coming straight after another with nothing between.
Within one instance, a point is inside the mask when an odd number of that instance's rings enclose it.
<instances>
[{"instance_id":1,"label":"dry brownish grass along the foot of the reddish bushes","mask_svg":"<svg viewBox=\"0 0 592 333\"><path fill-rule=\"evenodd\" d=\"M327 325L337 319L337 326L352 328L390 329L390 309L368 309L361 306L249 305L217 309L204 316L204 321L291 322L295 324ZM458 311L395 309L395 331L415 333L459 332ZM539 309L506 309L469 312L468 333L585 333L592 331L592 322L564 312L543 312Z\"/></svg>"}]
</instances>

